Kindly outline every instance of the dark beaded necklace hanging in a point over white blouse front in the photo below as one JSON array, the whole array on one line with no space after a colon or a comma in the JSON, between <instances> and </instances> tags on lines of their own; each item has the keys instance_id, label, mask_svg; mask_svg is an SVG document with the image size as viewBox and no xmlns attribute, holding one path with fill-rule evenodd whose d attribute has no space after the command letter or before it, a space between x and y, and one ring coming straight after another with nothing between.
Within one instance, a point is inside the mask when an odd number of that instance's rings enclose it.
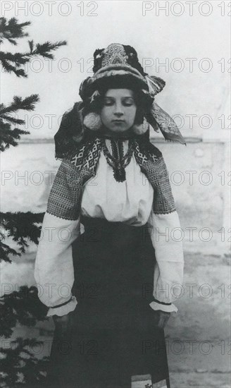
<instances>
[{"instance_id":1,"label":"dark beaded necklace hanging in a point over white blouse front","mask_svg":"<svg viewBox=\"0 0 231 388\"><path fill-rule=\"evenodd\" d=\"M106 161L113 168L113 176L117 182L124 182L126 179L125 167L130 163L132 159L132 154L134 151L135 142L133 139L130 139L128 142L128 149L125 155L123 155L123 140L111 139L111 150L112 154L109 152L108 147L106 146L105 139L102 143L102 148Z\"/></svg>"}]
</instances>

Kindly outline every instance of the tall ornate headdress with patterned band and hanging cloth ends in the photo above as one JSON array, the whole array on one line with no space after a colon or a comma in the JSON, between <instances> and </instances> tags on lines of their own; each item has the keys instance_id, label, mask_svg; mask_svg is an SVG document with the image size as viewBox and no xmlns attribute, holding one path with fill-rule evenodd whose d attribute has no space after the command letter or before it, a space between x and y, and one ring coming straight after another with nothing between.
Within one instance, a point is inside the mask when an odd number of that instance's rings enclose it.
<instances>
[{"instance_id":1,"label":"tall ornate headdress with patterned band and hanging cloth ends","mask_svg":"<svg viewBox=\"0 0 231 388\"><path fill-rule=\"evenodd\" d=\"M73 147L73 141L80 142L85 131L100 131L101 118L93 108L94 102L99 98L100 90L109 87L129 88L130 85L142 93L148 109L144 112L144 122L134 126L137 135L149 133L150 124L154 131L160 129L166 140L186 144L175 121L154 102L154 97L166 85L165 81L144 73L133 47L112 43L106 49L96 49L93 72L92 77L87 77L80 85L82 102L76 102L63 115L61 126L54 136L56 157L63 157Z\"/></svg>"}]
</instances>

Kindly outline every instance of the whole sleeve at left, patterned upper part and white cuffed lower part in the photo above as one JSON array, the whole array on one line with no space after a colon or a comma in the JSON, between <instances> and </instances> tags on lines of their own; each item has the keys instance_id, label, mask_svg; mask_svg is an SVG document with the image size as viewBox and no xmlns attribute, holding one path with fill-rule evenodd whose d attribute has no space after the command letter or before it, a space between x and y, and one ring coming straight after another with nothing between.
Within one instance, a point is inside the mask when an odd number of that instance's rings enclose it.
<instances>
[{"instance_id":1,"label":"whole sleeve at left, patterned upper part and white cuffed lower part","mask_svg":"<svg viewBox=\"0 0 231 388\"><path fill-rule=\"evenodd\" d=\"M72 243L80 234L80 174L63 159L54 178L44 214L35 259L39 299L49 307L47 316L75 310Z\"/></svg>"}]
</instances>

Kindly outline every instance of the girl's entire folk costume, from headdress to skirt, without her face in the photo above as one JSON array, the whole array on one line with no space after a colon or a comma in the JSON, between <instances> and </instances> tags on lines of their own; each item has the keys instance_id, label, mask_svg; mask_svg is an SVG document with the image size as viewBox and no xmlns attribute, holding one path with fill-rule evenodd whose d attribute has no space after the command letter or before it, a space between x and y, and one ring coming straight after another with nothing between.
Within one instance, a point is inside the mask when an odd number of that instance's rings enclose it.
<instances>
[{"instance_id":1,"label":"girl's entire folk costume, from headdress to skirt, without her face","mask_svg":"<svg viewBox=\"0 0 231 388\"><path fill-rule=\"evenodd\" d=\"M166 237L180 222L149 124L166 140L185 140L154 102L164 81L144 73L135 49L113 43L96 50L93 71L55 135L62 162L35 262L47 316L75 317L65 339L54 332L47 387L130 388L134 375L170 387L155 317L177 311L184 260L181 241ZM94 103L105 85L135 85L148 107L126 135L104 131Z\"/></svg>"}]
</instances>

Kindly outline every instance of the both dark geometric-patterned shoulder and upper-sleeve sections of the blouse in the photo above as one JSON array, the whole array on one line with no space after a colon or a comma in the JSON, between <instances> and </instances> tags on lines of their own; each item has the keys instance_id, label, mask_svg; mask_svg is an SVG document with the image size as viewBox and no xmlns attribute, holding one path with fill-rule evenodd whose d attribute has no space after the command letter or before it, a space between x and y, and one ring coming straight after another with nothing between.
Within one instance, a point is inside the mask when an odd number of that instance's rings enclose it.
<instances>
[{"instance_id":1,"label":"both dark geometric-patterned shoulder and upper-sleeve sections of the blouse","mask_svg":"<svg viewBox=\"0 0 231 388\"><path fill-rule=\"evenodd\" d=\"M63 219L75 220L80 216L82 189L95 176L103 139L93 138L81 145L75 156L61 162L49 194L47 212ZM134 154L142 172L154 188L155 214L175 211L168 170L161 152L151 143L135 141Z\"/></svg>"}]
</instances>

